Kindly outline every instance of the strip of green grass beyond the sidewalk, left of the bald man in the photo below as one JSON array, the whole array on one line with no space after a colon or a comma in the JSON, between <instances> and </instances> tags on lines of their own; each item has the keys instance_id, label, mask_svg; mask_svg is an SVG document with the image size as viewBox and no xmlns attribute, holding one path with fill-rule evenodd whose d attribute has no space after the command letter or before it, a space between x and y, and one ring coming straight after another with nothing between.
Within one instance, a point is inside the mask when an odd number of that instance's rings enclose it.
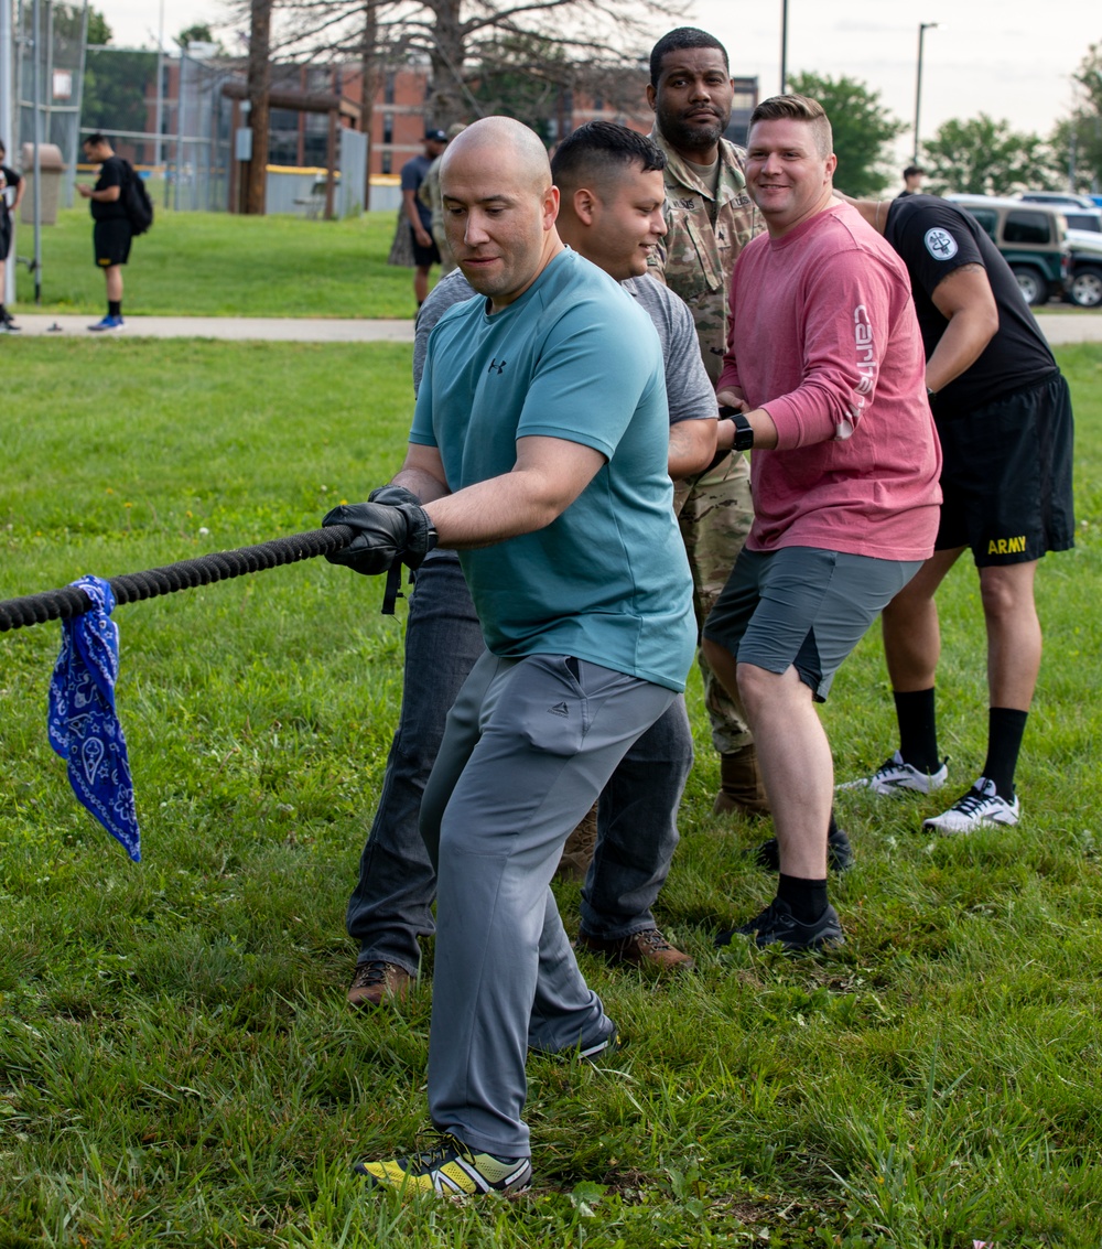
<instances>
[{"instance_id":1,"label":"strip of green grass beyond the sidewalk, left of the bald man","mask_svg":"<svg viewBox=\"0 0 1102 1249\"><path fill-rule=\"evenodd\" d=\"M126 316L412 317L413 271L387 265L394 212L307 221L172 212L135 239L126 266ZM20 256L34 251L21 226ZM34 281L16 277L16 312L35 311ZM42 311L101 312L104 275L92 264L87 207L42 227Z\"/></svg>"}]
</instances>

